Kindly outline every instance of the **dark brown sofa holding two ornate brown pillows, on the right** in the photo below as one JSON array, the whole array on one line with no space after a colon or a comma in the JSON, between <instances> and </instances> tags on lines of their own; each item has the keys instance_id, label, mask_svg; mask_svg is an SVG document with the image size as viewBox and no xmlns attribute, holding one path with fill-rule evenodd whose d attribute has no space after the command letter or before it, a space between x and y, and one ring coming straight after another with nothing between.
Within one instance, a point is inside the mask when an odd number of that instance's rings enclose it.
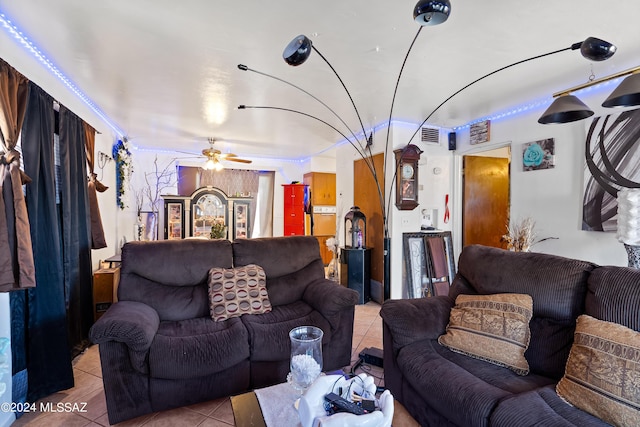
<instances>
[{"instance_id":1,"label":"dark brown sofa holding two ornate brown pillows, on the right","mask_svg":"<svg viewBox=\"0 0 640 427\"><path fill-rule=\"evenodd\" d=\"M640 271L540 253L464 248L448 296L386 301L385 385L422 426L606 426L556 394L576 318L588 314L640 331ZM530 373L438 344L459 294L533 298Z\"/></svg>"}]
</instances>

